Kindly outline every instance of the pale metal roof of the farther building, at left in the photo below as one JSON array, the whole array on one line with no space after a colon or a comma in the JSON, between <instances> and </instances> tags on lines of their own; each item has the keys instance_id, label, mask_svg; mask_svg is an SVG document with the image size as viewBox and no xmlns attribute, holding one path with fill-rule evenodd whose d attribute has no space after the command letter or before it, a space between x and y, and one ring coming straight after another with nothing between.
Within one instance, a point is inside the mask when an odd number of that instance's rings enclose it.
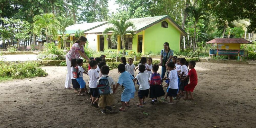
<instances>
[{"instance_id":1,"label":"pale metal roof of the farther building, at left","mask_svg":"<svg viewBox=\"0 0 256 128\"><path fill-rule=\"evenodd\" d=\"M79 29L81 31L88 31L91 30L93 28L99 27L101 25L107 24L106 21L104 22L93 22L93 23L82 23L82 24L74 24L71 26L66 27L66 33L65 34L74 34L76 31L78 31ZM61 34L61 33L59 33Z\"/></svg>"}]
</instances>

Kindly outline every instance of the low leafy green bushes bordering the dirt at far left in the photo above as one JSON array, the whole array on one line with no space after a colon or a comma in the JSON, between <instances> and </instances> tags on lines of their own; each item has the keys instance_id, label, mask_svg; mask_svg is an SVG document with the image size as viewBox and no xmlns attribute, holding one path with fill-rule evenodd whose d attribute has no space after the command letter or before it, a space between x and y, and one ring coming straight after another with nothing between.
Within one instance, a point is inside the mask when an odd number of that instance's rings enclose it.
<instances>
[{"instance_id":1,"label":"low leafy green bushes bordering the dirt at far left","mask_svg":"<svg viewBox=\"0 0 256 128\"><path fill-rule=\"evenodd\" d=\"M0 61L0 76L2 79L7 77L22 79L44 75L47 75L47 73L39 67L37 62L4 63Z\"/></svg>"}]
</instances>

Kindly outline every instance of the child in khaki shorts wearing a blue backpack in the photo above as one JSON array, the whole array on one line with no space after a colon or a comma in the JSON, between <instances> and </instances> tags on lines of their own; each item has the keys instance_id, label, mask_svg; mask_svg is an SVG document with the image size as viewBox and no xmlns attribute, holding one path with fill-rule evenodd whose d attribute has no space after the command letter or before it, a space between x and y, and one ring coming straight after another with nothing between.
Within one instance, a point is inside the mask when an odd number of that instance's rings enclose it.
<instances>
[{"instance_id":1,"label":"child in khaki shorts wearing a blue backpack","mask_svg":"<svg viewBox=\"0 0 256 128\"><path fill-rule=\"evenodd\" d=\"M108 87L110 87L111 85L113 85L113 89L115 89L115 82L114 80L108 76L109 74L109 67L108 66L102 66L101 67L101 73L102 73L102 77L99 78L97 85L99 84L100 79L102 79L103 77L106 77L108 79ZM106 114L106 110L112 112L111 109L111 105L114 104L115 100L114 100L114 91L110 88L110 94L107 95L100 95L100 99L99 99L99 107L102 107L101 112L103 114Z\"/></svg>"}]
</instances>

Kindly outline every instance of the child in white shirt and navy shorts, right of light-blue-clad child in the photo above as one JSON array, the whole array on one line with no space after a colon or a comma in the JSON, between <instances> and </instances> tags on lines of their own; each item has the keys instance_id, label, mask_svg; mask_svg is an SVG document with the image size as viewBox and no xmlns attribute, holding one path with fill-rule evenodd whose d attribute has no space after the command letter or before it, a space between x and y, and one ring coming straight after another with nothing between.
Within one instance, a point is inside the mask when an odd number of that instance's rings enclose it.
<instances>
[{"instance_id":1,"label":"child in white shirt and navy shorts, right of light-blue-clad child","mask_svg":"<svg viewBox=\"0 0 256 128\"><path fill-rule=\"evenodd\" d=\"M145 101L145 97L148 96L148 92L149 92L149 83L148 83L148 77L147 77L147 73L145 72L145 65L140 65L139 66L139 71L141 72L140 74L138 74L134 79L133 82L135 82L136 80L138 80L140 82L140 88L138 91L138 98L140 103L137 104L138 107L143 107L143 104L146 104Z\"/></svg>"}]
</instances>

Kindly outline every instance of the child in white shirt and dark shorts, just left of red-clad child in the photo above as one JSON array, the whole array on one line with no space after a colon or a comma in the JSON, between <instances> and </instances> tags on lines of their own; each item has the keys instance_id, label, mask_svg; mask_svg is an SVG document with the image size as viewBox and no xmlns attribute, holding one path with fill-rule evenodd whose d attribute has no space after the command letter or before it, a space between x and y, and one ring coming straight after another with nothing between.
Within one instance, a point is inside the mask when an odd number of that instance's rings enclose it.
<instances>
[{"instance_id":1,"label":"child in white shirt and dark shorts, just left of red-clad child","mask_svg":"<svg viewBox=\"0 0 256 128\"><path fill-rule=\"evenodd\" d=\"M186 77L188 75L188 67L185 65L186 64L186 59L185 58L180 58L180 79L183 79L184 77ZM180 82L180 86L179 86L179 92L180 92L180 96L183 97L183 91L185 90L185 86L188 84L188 79L183 80ZM178 98L180 99L180 97Z\"/></svg>"}]
</instances>

